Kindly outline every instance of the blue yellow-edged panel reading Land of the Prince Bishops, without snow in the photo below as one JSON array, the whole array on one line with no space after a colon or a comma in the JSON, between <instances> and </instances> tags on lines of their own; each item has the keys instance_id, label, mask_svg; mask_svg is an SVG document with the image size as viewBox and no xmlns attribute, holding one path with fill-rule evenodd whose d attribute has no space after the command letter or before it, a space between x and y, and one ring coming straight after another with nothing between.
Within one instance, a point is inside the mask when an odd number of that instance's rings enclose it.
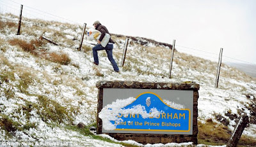
<instances>
[{"instance_id":1,"label":"blue yellow-edged panel reading Land of the Prince Bishops, without snow","mask_svg":"<svg viewBox=\"0 0 256 147\"><path fill-rule=\"evenodd\" d=\"M115 130L189 132L191 128L189 109L171 108L153 92L144 92L138 95L134 102L125 106L122 110L136 110L138 106L142 108L147 116L134 111L129 114L120 113L118 118L121 118L122 122L111 121L116 126Z\"/></svg>"}]
</instances>

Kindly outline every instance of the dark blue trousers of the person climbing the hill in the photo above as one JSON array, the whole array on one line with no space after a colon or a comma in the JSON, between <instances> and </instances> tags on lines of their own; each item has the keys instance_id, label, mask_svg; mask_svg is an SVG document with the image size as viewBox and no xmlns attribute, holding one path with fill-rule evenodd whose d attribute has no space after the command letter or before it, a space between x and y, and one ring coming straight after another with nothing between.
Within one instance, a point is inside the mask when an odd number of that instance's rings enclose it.
<instances>
[{"instance_id":1,"label":"dark blue trousers of the person climbing the hill","mask_svg":"<svg viewBox=\"0 0 256 147\"><path fill-rule=\"evenodd\" d=\"M112 66L114 68L114 71L116 71L116 72L119 71L116 61L115 61L115 59L113 59L113 45L108 44L106 47L103 47L102 45L96 45L92 48L93 59L96 64L99 64L99 57L98 57L98 52L97 52L98 50L106 50L108 59L111 62Z\"/></svg>"}]
</instances>

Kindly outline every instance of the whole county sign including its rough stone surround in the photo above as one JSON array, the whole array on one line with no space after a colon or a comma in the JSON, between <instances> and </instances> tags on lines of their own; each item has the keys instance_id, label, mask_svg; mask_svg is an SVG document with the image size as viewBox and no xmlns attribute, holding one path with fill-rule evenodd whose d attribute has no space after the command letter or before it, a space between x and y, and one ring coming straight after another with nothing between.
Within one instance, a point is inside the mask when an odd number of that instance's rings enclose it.
<instances>
[{"instance_id":1,"label":"whole county sign including its rough stone surround","mask_svg":"<svg viewBox=\"0 0 256 147\"><path fill-rule=\"evenodd\" d=\"M197 144L193 82L98 81L97 134L138 143Z\"/></svg>"}]
</instances>

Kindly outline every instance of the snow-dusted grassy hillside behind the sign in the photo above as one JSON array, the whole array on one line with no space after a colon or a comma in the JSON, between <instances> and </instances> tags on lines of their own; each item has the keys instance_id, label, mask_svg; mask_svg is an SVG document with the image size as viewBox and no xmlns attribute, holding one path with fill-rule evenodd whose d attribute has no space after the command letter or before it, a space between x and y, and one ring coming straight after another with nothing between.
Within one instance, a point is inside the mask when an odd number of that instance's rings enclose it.
<instances>
[{"instance_id":1,"label":"snow-dusted grassy hillside behind the sign","mask_svg":"<svg viewBox=\"0 0 256 147\"><path fill-rule=\"evenodd\" d=\"M92 134L85 135L76 126L78 123L88 127L95 125L97 81L123 80L195 81L200 84L200 125L212 121L216 126L227 126L230 133L239 116L246 113L250 116L250 125L243 132L244 139L256 142L255 78L223 64L219 88L214 88L217 63L177 50L170 79L172 50L145 39L143 45L138 40L130 41L125 65L120 67L120 73L115 73L106 52L99 52L99 66L95 66L93 45L84 40L82 50L77 50L81 26L22 18L21 32L17 36L17 22L17 16L0 15L0 141L67 141L80 146L122 146L114 143L120 141L110 143L111 139L106 142ZM60 45L40 40L40 36ZM125 37L112 38L116 41L113 56L120 66ZM227 143L223 140L222 143ZM134 141L122 143L143 146Z\"/></svg>"}]
</instances>

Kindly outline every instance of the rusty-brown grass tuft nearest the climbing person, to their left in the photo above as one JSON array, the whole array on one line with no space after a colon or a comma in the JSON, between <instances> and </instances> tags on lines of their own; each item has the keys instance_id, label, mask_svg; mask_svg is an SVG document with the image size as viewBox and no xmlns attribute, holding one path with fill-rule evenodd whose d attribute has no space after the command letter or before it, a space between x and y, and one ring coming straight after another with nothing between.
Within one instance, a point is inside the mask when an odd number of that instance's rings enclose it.
<instances>
[{"instance_id":1,"label":"rusty-brown grass tuft nearest the climbing person, to their left","mask_svg":"<svg viewBox=\"0 0 256 147\"><path fill-rule=\"evenodd\" d=\"M52 62L60 63L62 65L70 64L71 59L66 53L50 53L50 59Z\"/></svg>"}]
</instances>

